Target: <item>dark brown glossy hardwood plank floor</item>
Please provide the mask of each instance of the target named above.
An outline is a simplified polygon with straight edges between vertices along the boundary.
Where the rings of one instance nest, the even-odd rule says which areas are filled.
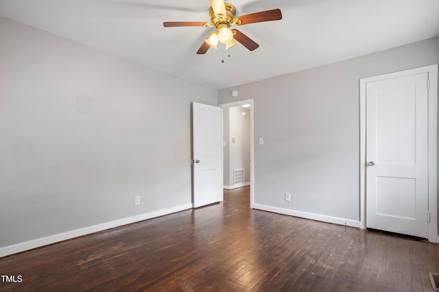
[[[0,258],[23,279],[0,291],[433,291],[439,245],[250,210],[248,192]]]

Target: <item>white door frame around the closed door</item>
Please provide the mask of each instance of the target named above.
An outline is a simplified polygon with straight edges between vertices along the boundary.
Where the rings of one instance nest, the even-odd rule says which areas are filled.
[[[429,90],[428,90],[428,212],[429,221],[429,238],[433,243],[439,243],[438,235],[438,64],[423,66],[415,69],[409,69],[394,73],[377,75],[373,77],[361,78],[359,80],[359,183],[360,183],[360,228],[366,229],[366,84],[379,80],[386,80],[406,75],[418,73],[428,73]],[[427,220],[427,215],[426,218]]]

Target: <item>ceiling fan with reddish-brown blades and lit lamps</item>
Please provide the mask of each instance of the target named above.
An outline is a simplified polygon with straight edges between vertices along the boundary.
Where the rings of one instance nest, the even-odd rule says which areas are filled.
[[[282,12],[280,9],[267,10],[261,12],[250,13],[241,16],[235,16],[236,8],[230,3],[224,3],[224,0],[211,0],[211,8],[209,8],[209,15],[211,22],[195,22],[195,21],[180,21],[180,22],[164,22],[164,27],[185,27],[185,26],[202,26],[202,27],[216,27],[217,31],[212,32],[204,40],[198,54],[206,53],[210,47],[217,48],[217,43],[222,42],[226,45],[226,49],[237,45],[238,42],[244,45],[250,51],[257,49],[259,45],[251,38],[239,32],[238,29],[230,29],[233,25],[246,25],[250,23],[261,23],[264,21],[278,21],[282,19]]]

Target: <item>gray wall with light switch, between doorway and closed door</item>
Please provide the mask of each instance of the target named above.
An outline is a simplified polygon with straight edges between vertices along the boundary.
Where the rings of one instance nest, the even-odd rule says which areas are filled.
[[[359,79],[437,63],[439,37],[219,90],[254,99],[254,203],[359,221]]]

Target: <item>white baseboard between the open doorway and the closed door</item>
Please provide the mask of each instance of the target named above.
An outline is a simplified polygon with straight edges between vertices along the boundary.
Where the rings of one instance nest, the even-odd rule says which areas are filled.
[[[294,217],[300,217],[300,218],[311,219],[311,220],[316,220],[316,221],[323,221],[323,222],[327,222],[327,223],[334,223],[334,224],[339,224],[339,225],[343,225],[343,226],[346,225],[346,226],[357,227],[357,228],[360,227],[359,221],[355,221],[355,220],[351,220],[351,219],[343,219],[343,218],[332,217],[332,216],[327,216],[327,215],[319,215],[319,214],[313,214],[313,213],[309,213],[309,212],[302,212],[302,211],[297,211],[297,210],[277,208],[277,207],[265,206],[265,205],[260,205],[260,204],[252,204],[252,208],[258,209],[258,210],[264,210],[264,211],[268,211],[268,212],[274,212],[274,213],[278,213],[278,214],[283,214],[283,215],[290,215],[290,216],[294,216]]]

